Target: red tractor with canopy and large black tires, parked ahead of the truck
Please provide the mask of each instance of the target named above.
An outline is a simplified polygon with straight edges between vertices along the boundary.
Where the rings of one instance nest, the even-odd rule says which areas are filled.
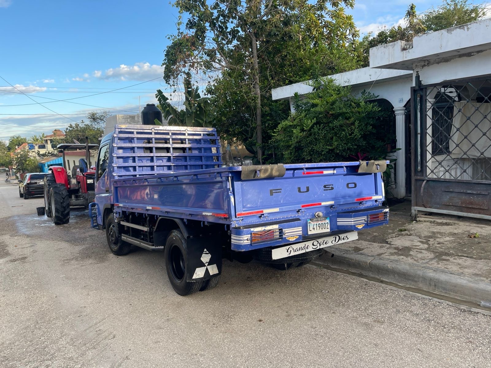
[[[44,180],[44,207],[46,216],[53,218],[55,225],[67,224],[70,221],[70,207],[84,207],[94,199],[95,170],[90,166],[90,149],[97,144],[63,143],[56,148],[62,153],[63,166],[50,166]],[[65,151],[85,149],[85,158],[79,159],[79,165],[72,167],[72,172],[65,170]]]

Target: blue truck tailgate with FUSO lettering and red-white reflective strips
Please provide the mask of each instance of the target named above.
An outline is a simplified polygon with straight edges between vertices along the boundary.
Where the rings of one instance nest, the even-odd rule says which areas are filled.
[[[358,173],[357,162],[285,165],[281,178],[234,180],[237,217],[381,200],[381,173]]]

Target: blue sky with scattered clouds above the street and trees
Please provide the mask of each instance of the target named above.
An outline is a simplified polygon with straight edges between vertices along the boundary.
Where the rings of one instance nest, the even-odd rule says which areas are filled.
[[[366,33],[397,24],[409,2],[360,0],[348,12]],[[413,2],[418,12],[441,3]],[[0,79],[0,139],[49,134],[88,111],[137,113],[138,101],[154,103],[155,90],[167,88],[161,64],[177,15],[166,0],[0,0],[0,77],[16,87]],[[63,117],[19,90],[39,103],[76,99],[45,104]]]

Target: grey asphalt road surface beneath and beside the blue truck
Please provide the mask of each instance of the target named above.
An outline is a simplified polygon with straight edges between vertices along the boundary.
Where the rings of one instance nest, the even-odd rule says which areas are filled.
[[[491,316],[306,266],[224,261],[177,295],[163,253],[113,256],[0,183],[0,367],[491,367]]]

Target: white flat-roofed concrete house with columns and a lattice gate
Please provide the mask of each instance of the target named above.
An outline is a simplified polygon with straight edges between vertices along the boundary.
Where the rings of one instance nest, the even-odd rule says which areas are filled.
[[[330,76],[370,91],[394,111],[398,198],[412,216],[437,212],[491,219],[491,20],[370,50],[370,68]],[[312,91],[273,89],[273,100]]]

